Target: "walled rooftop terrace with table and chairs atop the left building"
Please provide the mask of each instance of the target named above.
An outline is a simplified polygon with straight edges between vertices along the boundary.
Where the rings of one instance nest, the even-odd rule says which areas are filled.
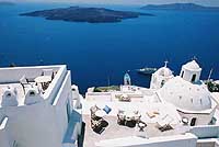
[[[53,103],[64,70],[66,66],[1,68],[0,108],[28,105],[41,100]]]

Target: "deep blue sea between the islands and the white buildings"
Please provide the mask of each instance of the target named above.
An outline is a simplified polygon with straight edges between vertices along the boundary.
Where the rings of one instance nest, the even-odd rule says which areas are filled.
[[[142,11],[139,7],[104,7],[152,13],[120,23],[73,23],[20,16],[20,13],[72,3],[20,3],[0,7],[0,66],[66,64],[72,83],[84,93],[89,87],[123,83],[130,70],[134,84],[149,87],[150,77],[138,75],[141,67],[169,67],[178,75],[194,56],[203,68],[201,78],[219,79],[219,12]],[[78,4],[77,4],[78,5]],[[84,7],[84,5],[83,5]]]

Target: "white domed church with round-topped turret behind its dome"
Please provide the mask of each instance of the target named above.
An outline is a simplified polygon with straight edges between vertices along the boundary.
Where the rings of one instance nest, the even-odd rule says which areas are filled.
[[[201,68],[195,60],[182,66],[181,77],[170,79],[159,90],[159,97],[172,103],[189,125],[211,122],[217,103],[207,87],[199,80]]]

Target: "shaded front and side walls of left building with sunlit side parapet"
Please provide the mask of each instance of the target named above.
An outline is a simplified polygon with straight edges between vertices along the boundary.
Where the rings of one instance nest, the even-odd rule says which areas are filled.
[[[9,136],[0,131],[0,147],[11,147],[14,140],[19,147],[62,147],[68,127],[67,103],[70,103],[69,113],[73,105],[70,101],[70,71],[67,71],[66,66],[59,67],[46,93],[47,100],[41,103],[0,109],[0,118],[5,115],[9,117]]]

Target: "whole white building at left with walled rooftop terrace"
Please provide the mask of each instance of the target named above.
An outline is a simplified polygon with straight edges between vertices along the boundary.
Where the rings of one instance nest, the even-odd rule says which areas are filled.
[[[0,68],[0,147],[74,146],[73,97],[64,65]]]

